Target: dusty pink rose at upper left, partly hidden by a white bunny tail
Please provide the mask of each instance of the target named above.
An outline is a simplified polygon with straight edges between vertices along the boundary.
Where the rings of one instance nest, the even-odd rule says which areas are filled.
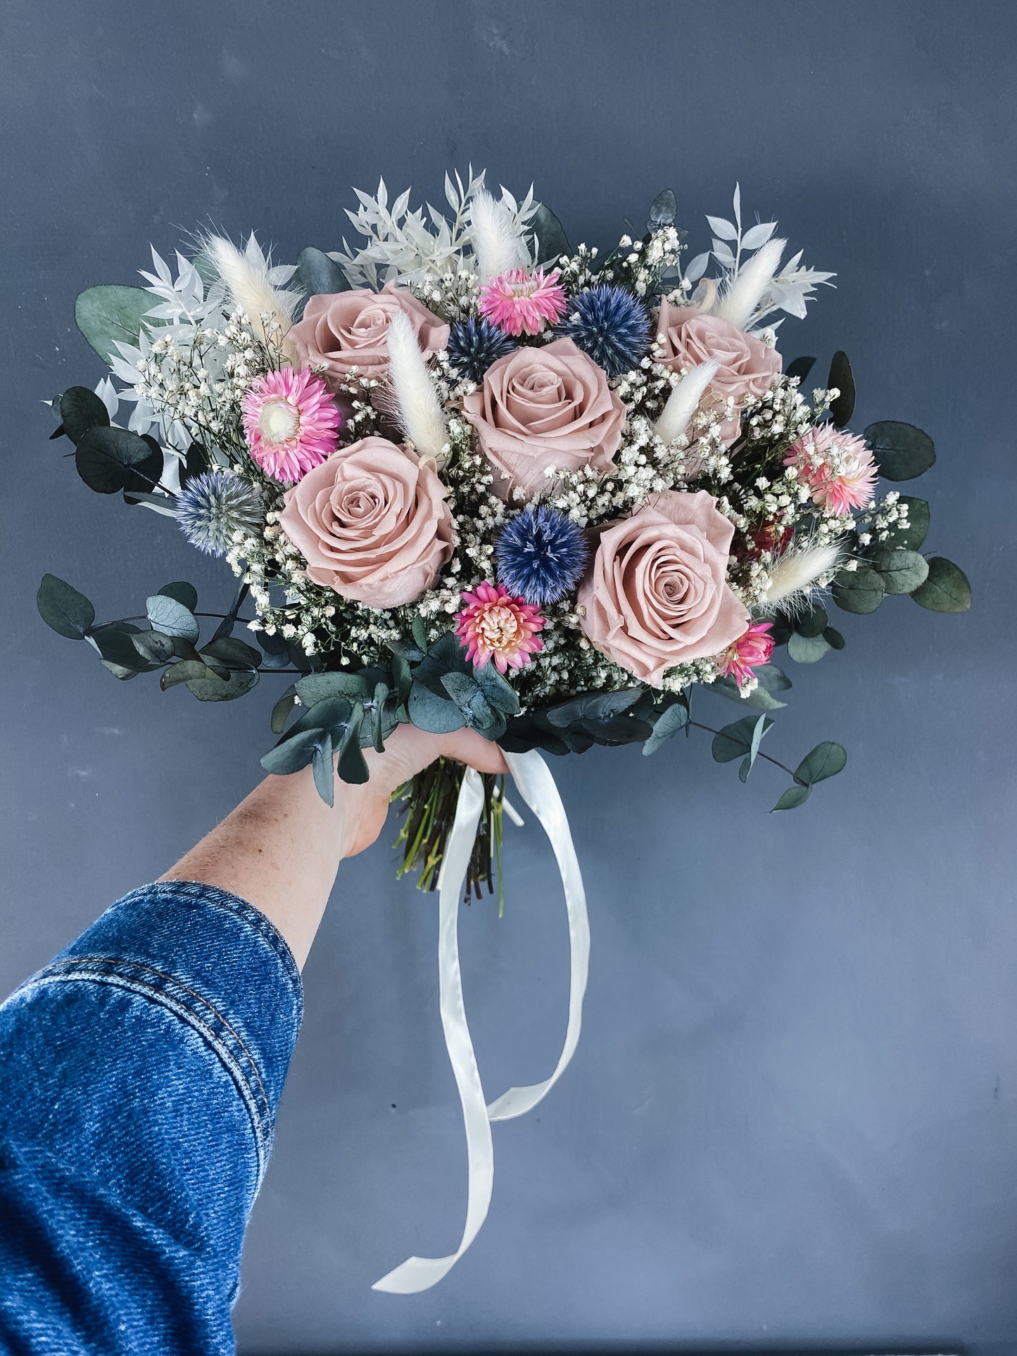
[[[348,376],[350,367],[357,367],[361,377],[384,377],[388,323],[397,311],[408,316],[423,353],[438,353],[449,342],[449,327],[395,282],[386,282],[381,292],[354,287],[311,297],[286,339],[304,367],[324,367],[324,380],[332,389]]]

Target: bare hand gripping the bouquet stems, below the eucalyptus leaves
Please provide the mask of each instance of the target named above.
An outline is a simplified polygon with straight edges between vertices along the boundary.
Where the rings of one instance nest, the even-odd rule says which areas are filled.
[[[477,772],[509,772],[498,744],[476,730],[457,730],[450,735],[428,735],[416,725],[399,725],[385,743],[385,753],[365,749],[370,780],[359,786],[336,781],[336,801],[342,800],[343,857],[353,857],[370,848],[381,833],[392,792],[423,772],[435,758],[454,758]]]

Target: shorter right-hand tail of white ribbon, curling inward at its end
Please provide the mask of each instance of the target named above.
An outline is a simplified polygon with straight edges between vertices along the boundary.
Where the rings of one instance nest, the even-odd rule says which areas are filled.
[[[534,750],[525,754],[504,754],[513,781],[533,814],[540,819],[544,831],[555,849],[557,869],[561,873],[561,887],[565,892],[565,913],[568,915],[570,979],[568,979],[568,1022],[561,1055],[555,1073],[544,1082],[527,1088],[510,1088],[496,1097],[487,1108],[490,1120],[513,1120],[523,1116],[540,1102],[561,1074],[575,1054],[579,1032],[583,1025],[583,995],[590,974],[590,918],[586,910],[586,890],[579,871],[572,833],[568,827],[565,807],[551,769]]]

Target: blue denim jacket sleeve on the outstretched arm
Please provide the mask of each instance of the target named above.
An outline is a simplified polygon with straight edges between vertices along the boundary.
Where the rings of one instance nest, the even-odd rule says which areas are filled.
[[[233,1352],[302,1016],[273,923],[163,881],[0,1006],[0,1352]]]

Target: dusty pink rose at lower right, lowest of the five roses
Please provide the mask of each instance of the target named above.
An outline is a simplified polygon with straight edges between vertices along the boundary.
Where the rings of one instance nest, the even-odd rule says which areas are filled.
[[[655,687],[675,664],[725,650],[750,621],[727,586],[734,530],[705,490],[669,490],[602,527],[578,594],[591,644]]]

